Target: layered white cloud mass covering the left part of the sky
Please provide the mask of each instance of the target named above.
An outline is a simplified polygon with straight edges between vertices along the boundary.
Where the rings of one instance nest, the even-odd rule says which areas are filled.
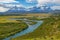
[[[11,3],[11,4],[8,4],[8,3]],[[18,3],[18,4],[13,4],[13,3]],[[22,5],[15,0],[0,0],[0,12],[6,12],[14,6],[21,7]]]

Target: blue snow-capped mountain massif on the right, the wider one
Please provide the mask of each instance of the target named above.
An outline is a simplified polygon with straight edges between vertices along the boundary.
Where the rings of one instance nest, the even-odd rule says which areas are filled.
[[[29,8],[29,9],[30,9],[30,11],[28,11],[28,12],[51,12],[52,11],[52,9],[50,7],[45,7],[45,6],[43,6],[43,7],[35,6],[33,8]]]

